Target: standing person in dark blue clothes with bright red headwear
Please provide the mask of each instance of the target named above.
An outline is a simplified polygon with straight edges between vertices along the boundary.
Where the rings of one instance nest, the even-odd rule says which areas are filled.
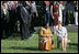
[[[50,3],[49,3],[49,1],[44,1],[44,19],[45,19],[45,23],[49,24],[49,18],[50,18]]]

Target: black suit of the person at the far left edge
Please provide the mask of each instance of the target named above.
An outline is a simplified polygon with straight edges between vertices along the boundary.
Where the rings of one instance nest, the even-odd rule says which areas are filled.
[[[8,37],[10,35],[9,31],[9,11],[7,10],[7,14],[4,14],[3,9],[1,9],[1,34],[2,37]]]

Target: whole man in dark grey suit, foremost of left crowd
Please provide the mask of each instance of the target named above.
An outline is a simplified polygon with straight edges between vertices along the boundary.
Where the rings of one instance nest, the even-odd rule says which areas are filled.
[[[21,31],[21,36],[22,40],[27,39],[30,36],[30,7],[31,3],[30,1],[19,1],[19,10],[18,12],[20,13],[20,31]]]

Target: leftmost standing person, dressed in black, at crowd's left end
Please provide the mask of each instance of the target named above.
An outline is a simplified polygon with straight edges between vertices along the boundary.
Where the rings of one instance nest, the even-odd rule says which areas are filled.
[[[8,37],[10,35],[9,31],[9,11],[8,11],[8,4],[7,1],[3,3],[3,36]]]

